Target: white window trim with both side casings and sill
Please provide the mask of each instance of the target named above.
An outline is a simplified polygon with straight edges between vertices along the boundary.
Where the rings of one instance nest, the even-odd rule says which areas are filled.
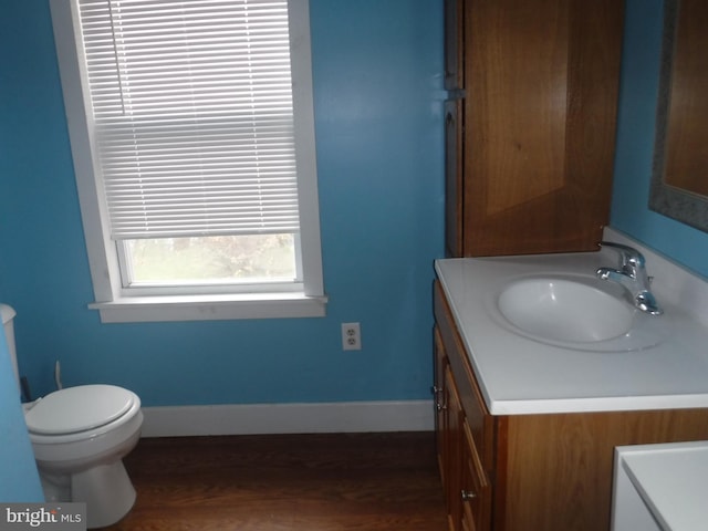
[[[95,301],[104,323],[212,321],[233,319],[324,316],[320,216],[314,146],[314,105],[309,0],[289,0],[293,62],[295,153],[299,180],[309,189],[300,197],[303,290],[274,293],[125,296],[118,257],[108,233],[107,212],[98,199],[91,156],[82,71],[79,66],[71,0],[50,0],[74,173]]]

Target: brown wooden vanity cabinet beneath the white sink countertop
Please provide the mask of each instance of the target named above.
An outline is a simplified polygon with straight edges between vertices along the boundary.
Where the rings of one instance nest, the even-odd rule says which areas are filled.
[[[708,440],[706,408],[490,415],[439,283],[435,317],[450,531],[610,530],[616,446]]]

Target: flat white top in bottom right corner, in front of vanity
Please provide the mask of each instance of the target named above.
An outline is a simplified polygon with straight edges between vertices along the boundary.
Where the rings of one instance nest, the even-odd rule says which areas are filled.
[[[662,530],[706,529],[708,441],[618,447],[615,462]],[[615,507],[616,520],[622,510]]]

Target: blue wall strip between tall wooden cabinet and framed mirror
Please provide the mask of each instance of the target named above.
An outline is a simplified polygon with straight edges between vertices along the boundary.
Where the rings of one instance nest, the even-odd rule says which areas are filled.
[[[611,225],[708,277],[708,235],[648,209],[663,0],[626,0]]]

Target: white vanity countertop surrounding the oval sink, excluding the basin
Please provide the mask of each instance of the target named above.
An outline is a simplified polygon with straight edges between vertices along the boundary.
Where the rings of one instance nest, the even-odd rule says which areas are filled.
[[[708,327],[670,298],[659,344],[627,352],[552,346],[514,333],[496,311],[511,279],[616,267],[602,252],[444,259],[436,271],[492,415],[708,407]],[[652,274],[652,264],[647,269]],[[658,268],[657,268],[658,269]],[[657,292],[658,294],[658,292]],[[655,321],[659,323],[659,321]]]

